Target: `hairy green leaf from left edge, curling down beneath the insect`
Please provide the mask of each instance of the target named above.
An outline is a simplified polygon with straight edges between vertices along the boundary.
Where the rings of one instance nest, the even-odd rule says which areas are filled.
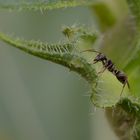
[[[81,49],[75,41],[68,41],[68,43],[61,44],[48,44],[41,41],[16,39],[3,33],[0,33],[0,40],[26,53],[63,65],[71,71],[80,74],[89,83],[91,101],[98,107],[112,106],[120,99],[120,94],[110,96],[106,92],[104,94],[100,92],[95,65],[89,62],[89,55],[87,56],[81,53]]]

